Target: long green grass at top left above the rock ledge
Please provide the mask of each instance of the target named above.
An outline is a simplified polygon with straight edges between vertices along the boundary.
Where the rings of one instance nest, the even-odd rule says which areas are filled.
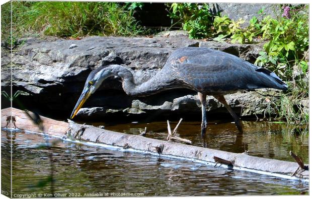
[[[8,6],[6,6],[8,7]],[[131,7],[130,7],[131,10]],[[134,36],[142,32],[132,16],[118,3],[13,2],[13,32],[50,36]],[[6,14],[5,22],[10,16]]]

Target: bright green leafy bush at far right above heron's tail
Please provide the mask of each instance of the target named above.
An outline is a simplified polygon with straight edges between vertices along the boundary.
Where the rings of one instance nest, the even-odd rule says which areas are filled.
[[[305,8],[307,9],[307,8]],[[261,31],[262,38],[269,40],[264,45],[266,55],[257,59],[259,66],[271,66],[278,69],[284,79],[291,79],[292,70],[288,67],[280,70],[280,65],[299,65],[302,71],[307,71],[307,64],[304,60],[304,53],[308,49],[308,13],[305,9],[291,10],[291,18],[272,19],[265,17]],[[271,60],[275,60],[272,63]],[[272,66],[273,64],[273,66]],[[275,68],[275,66],[277,68]]]

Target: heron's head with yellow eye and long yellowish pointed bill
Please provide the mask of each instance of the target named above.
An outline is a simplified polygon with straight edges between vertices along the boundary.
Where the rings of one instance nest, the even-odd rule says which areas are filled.
[[[72,113],[70,115],[70,119],[72,119],[80,108],[84,105],[87,99],[93,94],[102,84],[102,82],[112,75],[111,70],[109,68],[98,68],[93,70],[85,83],[84,90],[80,95]]]

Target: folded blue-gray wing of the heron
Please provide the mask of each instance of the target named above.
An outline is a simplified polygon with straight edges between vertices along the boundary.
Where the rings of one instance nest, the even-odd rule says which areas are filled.
[[[206,93],[252,89],[253,73],[259,68],[219,51],[189,53],[172,60],[171,67],[194,90]]]

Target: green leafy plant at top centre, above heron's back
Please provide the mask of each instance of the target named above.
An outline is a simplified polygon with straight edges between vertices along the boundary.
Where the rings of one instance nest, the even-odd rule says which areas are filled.
[[[183,30],[188,31],[191,39],[211,37],[214,16],[208,4],[173,3],[168,6],[169,16],[182,23]]]

